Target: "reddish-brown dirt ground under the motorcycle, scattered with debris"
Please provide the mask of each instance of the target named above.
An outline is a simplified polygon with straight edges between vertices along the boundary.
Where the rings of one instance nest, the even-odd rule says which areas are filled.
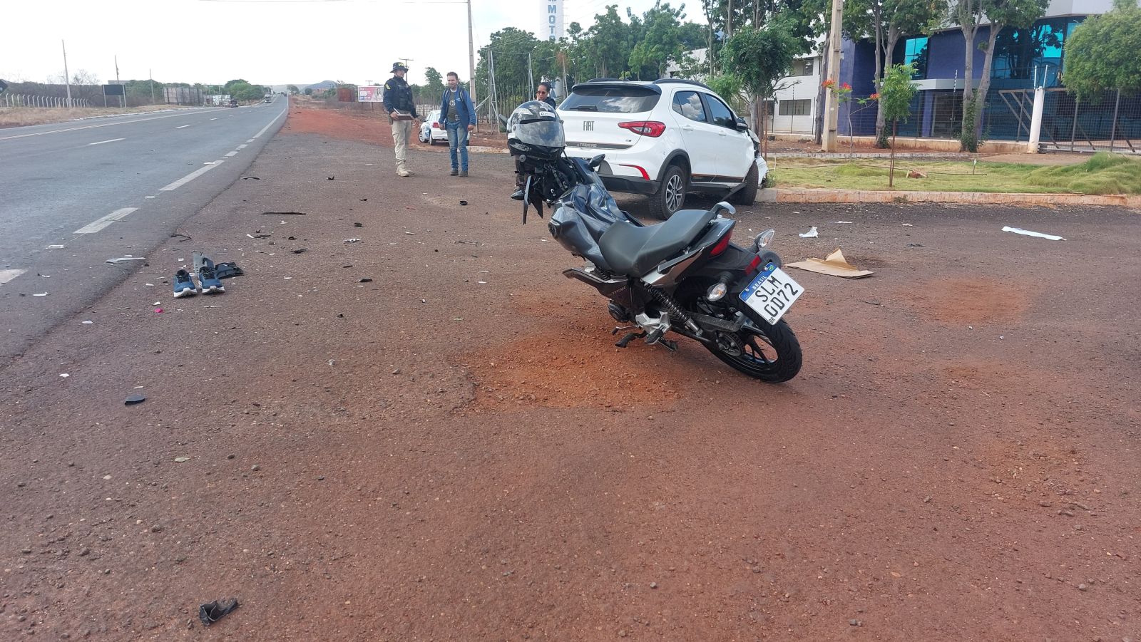
[[[793,275],[766,385],[615,348],[510,157],[400,179],[386,130],[291,111],[2,367],[0,637],[1141,640],[1134,212],[742,208],[875,271]],[[155,294],[195,250],[245,276]]]

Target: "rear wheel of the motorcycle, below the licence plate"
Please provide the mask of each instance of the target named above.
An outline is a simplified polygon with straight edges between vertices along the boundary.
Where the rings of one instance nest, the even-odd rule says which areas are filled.
[[[784,319],[771,325],[744,304],[741,308],[725,307],[743,312],[752,326],[745,326],[733,335],[726,333],[712,344],[704,343],[714,357],[737,372],[766,383],[780,383],[796,376],[803,363],[800,342]]]

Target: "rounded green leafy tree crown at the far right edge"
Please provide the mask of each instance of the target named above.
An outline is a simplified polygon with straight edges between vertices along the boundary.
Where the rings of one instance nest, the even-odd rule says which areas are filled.
[[[1107,89],[1141,91],[1141,9],[1135,0],[1091,16],[1066,40],[1066,89],[1079,99]]]

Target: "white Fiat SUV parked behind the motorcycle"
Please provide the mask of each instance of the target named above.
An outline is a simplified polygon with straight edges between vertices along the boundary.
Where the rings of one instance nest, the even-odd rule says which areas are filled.
[[[648,195],[661,219],[690,192],[752,204],[768,172],[745,121],[699,82],[596,79],[574,86],[558,114],[567,155],[605,154],[607,189]]]

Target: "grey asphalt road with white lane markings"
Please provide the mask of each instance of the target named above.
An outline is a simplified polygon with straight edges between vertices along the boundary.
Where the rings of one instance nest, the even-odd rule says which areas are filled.
[[[237,180],[288,100],[0,130],[0,356],[90,304]],[[169,285],[155,284],[155,300]]]

